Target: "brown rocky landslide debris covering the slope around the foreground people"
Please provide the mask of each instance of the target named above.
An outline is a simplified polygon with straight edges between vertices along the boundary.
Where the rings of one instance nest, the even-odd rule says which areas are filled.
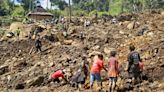
[[[83,25],[71,24],[68,37],[64,38],[59,31],[52,31],[54,42],[42,39],[43,52],[34,53],[34,40],[20,38],[19,41],[0,42],[0,90],[1,92],[75,92],[76,88],[68,84],[47,84],[49,76],[61,67],[77,71],[81,57],[101,52],[105,64],[109,52],[114,48],[118,52],[122,66],[118,79],[120,92],[163,92],[164,90],[164,12],[152,11],[140,14],[122,14],[117,17],[118,23],[100,21],[84,29]],[[30,24],[26,24],[30,25]],[[46,30],[45,30],[46,31]],[[81,40],[80,32],[84,32]],[[46,35],[46,32],[40,34]],[[3,38],[3,37],[2,37]],[[2,39],[1,38],[1,39]],[[128,46],[134,44],[145,64],[144,81],[138,85],[127,83],[126,59]],[[107,73],[102,72],[103,91],[108,90]],[[89,78],[86,81],[89,86]],[[96,85],[96,84],[95,84]],[[95,86],[95,89],[97,87]],[[91,92],[90,89],[82,92]]]

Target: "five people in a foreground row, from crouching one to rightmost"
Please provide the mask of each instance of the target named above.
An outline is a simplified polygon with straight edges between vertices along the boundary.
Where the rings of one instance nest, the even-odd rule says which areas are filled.
[[[129,79],[131,79],[131,83],[135,83],[138,79],[141,79],[142,71],[143,71],[143,63],[140,58],[140,55],[137,51],[135,51],[135,47],[132,45],[129,47],[130,53],[128,55],[128,69],[127,72],[129,74]],[[68,83],[78,85],[81,84],[85,87],[85,81],[90,71],[90,88],[93,88],[93,84],[97,81],[99,87],[102,88],[102,79],[101,79],[101,70],[104,69],[109,78],[109,92],[113,92],[116,88],[117,78],[119,76],[119,63],[116,58],[117,52],[111,51],[110,58],[108,61],[108,67],[105,67],[103,61],[103,55],[98,54],[97,57],[93,59],[93,64],[89,69],[89,64],[85,62],[85,58],[83,58],[80,69],[75,73],[70,80],[65,78],[66,72],[65,69],[59,69],[55,71],[51,75],[51,81],[57,81],[59,83],[59,78],[65,79]]]

